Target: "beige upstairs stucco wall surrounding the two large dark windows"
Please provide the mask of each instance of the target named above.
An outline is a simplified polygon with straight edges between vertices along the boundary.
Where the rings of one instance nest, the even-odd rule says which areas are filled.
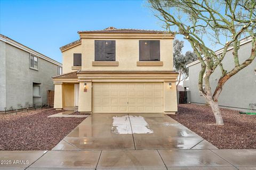
[[[160,60],[163,66],[137,66],[139,61],[140,39],[111,39],[116,41],[116,61],[118,66],[92,66],[94,61],[94,40],[82,39],[82,70],[172,70],[173,69],[173,42],[172,39],[160,40]],[[109,39],[100,39],[109,40]],[[145,40],[145,39],[143,39]],[[150,39],[147,39],[150,40]],[[63,63],[63,67],[66,64]]]

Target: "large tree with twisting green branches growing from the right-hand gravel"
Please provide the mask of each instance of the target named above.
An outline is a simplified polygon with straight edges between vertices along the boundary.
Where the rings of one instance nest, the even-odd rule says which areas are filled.
[[[224,84],[240,70],[251,64],[256,56],[256,0],[148,0],[155,16],[164,27],[185,37],[201,62],[198,88],[210,104],[217,125],[224,125],[218,98]],[[241,37],[251,36],[251,55],[239,61],[238,49]],[[207,37],[207,39],[206,39]],[[206,40],[223,46],[217,56]],[[222,61],[229,47],[233,46],[234,67],[225,70]],[[231,64],[231,63],[230,63]],[[211,90],[210,77],[215,69],[221,70],[215,90]],[[203,83],[205,88],[203,88]]]

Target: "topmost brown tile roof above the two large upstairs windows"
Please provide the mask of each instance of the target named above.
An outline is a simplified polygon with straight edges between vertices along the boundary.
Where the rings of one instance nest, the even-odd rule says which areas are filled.
[[[78,33],[169,33],[162,30],[141,30],[141,29],[117,29],[108,27],[103,30],[78,31]]]

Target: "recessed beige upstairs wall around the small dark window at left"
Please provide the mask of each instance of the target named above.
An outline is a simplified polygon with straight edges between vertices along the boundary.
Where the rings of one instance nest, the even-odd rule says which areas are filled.
[[[71,70],[71,67],[73,66],[73,54],[74,53],[82,53],[82,46],[78,45],[75,46],[73,48],[70,48],[68,50],[65,50],[64,52],[62,52],[62,72],[63,74],[68,73],[68,72],[72,72],[75,70]]]

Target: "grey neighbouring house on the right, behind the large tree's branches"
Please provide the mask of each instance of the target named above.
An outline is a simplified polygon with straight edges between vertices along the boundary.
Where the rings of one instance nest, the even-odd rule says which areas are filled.
[[[239,62],[242,63],[251,55],[252,39],[245,38],[241,40],[241,46],[238,50]],[[234,60],[232,49],[230,47],[223,60],[223,67],[227,71],[230,71],[234,67]],[[215,52],[217,55],[222,53],[222,49]],[[198,75],[201,70],[201,63],[195,61],[187,65],[189,68],[189,80],[183,81],[183,87],[190,91],[191,103],[205,104],[204,97],[198,90]],[[223,87],[223,90],[219,97],[219,105],[226,108],[247,111],[251,108],[250,104],[256,104],[256,60],[254,60],[249,66],[239,71],[233,77],[231,77]],[[218,79],[221,75],[220,69],[216,69],[212,74],[210,83],[212,90],[215,89],[218,83]],[[256,109],[256,105],[253,106]]]

